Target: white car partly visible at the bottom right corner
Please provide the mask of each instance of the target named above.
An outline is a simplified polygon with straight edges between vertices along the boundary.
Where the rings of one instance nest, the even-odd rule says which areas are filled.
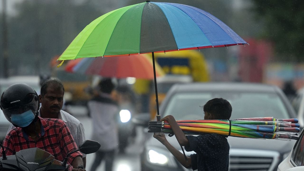
[[[292,151],[286,159],[278,166],[278,171],[299,171],[304,170],[304,131],[302,130],[299,140],[296,141]]]

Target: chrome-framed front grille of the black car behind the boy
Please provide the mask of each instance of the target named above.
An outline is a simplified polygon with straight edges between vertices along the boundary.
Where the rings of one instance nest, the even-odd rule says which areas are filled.
[[[230,149],[230,171],[273,171],[280,154],[267,150]]]

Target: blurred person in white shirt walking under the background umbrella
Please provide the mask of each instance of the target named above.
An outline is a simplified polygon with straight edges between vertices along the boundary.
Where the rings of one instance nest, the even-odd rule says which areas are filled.
[[[105,171],[112,171],[115,152],[119,143],[116,122],[119,112],[118,104],[111,97],[111,92],[114,89],[111,79],[102,79],[99,88],[99,95],[88,101],[88,109],[94,128],[92,140],[101,144],[101,147],[95,153],[91,171],[95,171],[102,160],[105,161]]]

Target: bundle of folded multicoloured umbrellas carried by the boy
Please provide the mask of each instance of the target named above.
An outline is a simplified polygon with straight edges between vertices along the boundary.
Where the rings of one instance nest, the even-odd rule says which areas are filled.
[[[273,117],[240,118],[233,120],[177,120],[186,135],[217,133],[241,138],[295,139],[299,138],[298,119]],[[148,132],[163,132],[173,135],[167,121],[150,121]]]

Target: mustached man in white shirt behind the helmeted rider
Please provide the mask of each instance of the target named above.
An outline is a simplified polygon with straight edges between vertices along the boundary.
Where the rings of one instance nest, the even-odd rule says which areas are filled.
[[[61,119],[67,124],[76,145],[85,141],[85,130],[81,122],[71,114],[61,110],[63,106],[64,86],[58,79],[48,79],[41,85],[39,102],[39,116],[42,118]],[[11,124],[9,131],[14,126]],[[86,155],[82,153],[84,167],[86,165]]]

